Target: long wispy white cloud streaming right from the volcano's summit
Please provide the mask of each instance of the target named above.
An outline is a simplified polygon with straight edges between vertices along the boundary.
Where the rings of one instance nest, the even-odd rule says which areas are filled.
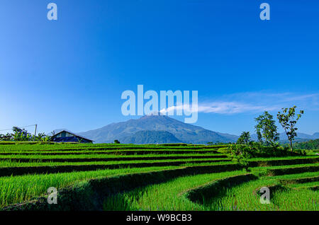
[[[235,93],[228,96],[206,100],[198,103],[198,108],[192,105],[177,105],[162,109],[160,113],[169,113],[174,110],[184,110],[193,113],[217,113],[217,114],[237,114],[237,113],[258,113],[267,110],[269,112],[280,110],[284,107],[297,105],[303,110],[319,110],[319,93],[296,94],[296,93]]]

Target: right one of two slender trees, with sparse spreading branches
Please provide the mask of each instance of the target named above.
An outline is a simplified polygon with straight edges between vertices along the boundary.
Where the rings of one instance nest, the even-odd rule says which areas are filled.
[[[291,152],[293,151],[292,142],[295,137],[297,137],[296,130],[298,128],[295,127],[295,125],[303,114],[303,110],[300,110],[300,114],[296,115],[296,108],[296,105],[293,105],[293,107],[291,108],[282,108],[282,112],[278,112],[277,114],[279,123],[284,128],[285,133],[289,139]]]

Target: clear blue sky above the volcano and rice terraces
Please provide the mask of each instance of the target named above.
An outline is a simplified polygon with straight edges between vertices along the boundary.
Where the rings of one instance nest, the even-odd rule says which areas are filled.
[[[319,132],[318,24],[315,0],[1,0],[0,129],[125,121],[121,93],[142,84],[198,91],[196,125],[214,131],[253,132],[263,110],[297,105],[299,132]]]

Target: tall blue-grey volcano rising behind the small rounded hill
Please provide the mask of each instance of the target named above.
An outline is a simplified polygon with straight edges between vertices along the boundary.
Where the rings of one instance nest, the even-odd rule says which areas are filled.
[[[79,133],[93,139],[96,143],[109,143],[118,139],[134,138],[140,131],[166,131],[174,135],[180,142],[206,144],[207,142],[234,142],[237,136],[213,132],[203,127],[186,124],[165,115],[146,115],[138,120],[112,123],[99,129]],[[128,139],[126,139],[128,140]]]

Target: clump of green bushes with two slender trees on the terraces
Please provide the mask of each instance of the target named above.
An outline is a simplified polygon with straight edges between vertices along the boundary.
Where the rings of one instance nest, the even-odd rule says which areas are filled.
[[[280,146],[279,133],[275,125],[273,115],[264,111],[262,115],[254,118],[257,125],[254,126],[257,133],[258,142],[253,142],[250,139],[250,132],[242,132],[237,139],[236,144],[231,144],[228,151],[231,156],[237,160],[242,166],[247,166],[249,158],[257,157],[272,157],[272,156],[300,156],[306,155],[306,151],[293,151],[293,140],[297,136],[296,123],[303,114],[296,115],[296,105],[292,108],[283,108],[282,112],[278,112],[277,118],[279,123],[284,128],[289,140],[289,146]],[[289,152],[289,149],[291,150]],[[313,149],[313,147],[310,147]]]

